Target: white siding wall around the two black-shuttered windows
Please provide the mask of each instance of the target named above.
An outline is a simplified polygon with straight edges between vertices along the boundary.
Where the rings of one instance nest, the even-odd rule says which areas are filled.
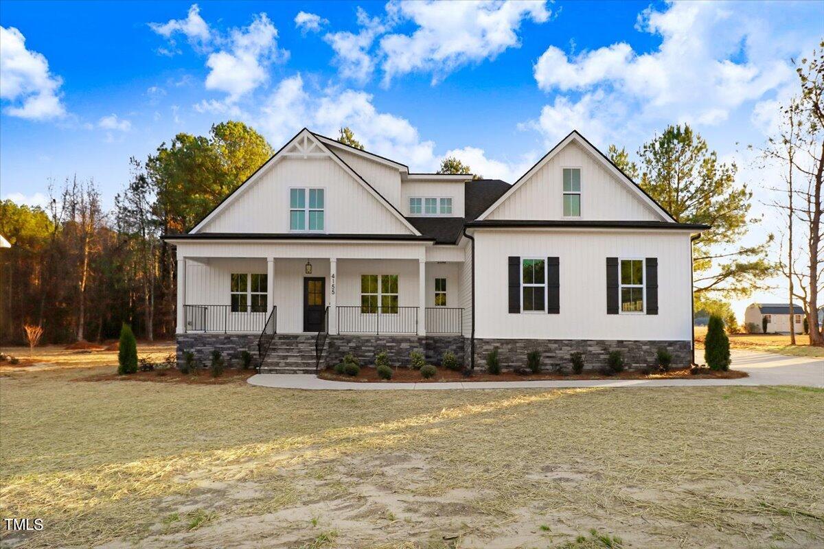
[[[689,341],[690,235],[476,230],[475,337]],[[560,314],[508,312],[508,256],[559,257]],[[658,258],[658,314],[606,314],[606,258]]]

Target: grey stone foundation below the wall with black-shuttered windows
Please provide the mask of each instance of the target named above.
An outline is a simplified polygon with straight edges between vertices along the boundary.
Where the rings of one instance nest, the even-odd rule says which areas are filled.
[[[466,340],[467,354],[470,341]],[[606,365],[611,351],[624,353],[625,367],[637,370],[656,365],[656,352],[666,349],[672,354],[673,368],[686,368],[692,362],[692,342],[689,341],[629,341],[592,339],[475,339],[475,370],[486,369],[486,355],[498,347],[498,357],[503,370],[527,367],[527,353],[541,351],[541,368],[549,370],[555,365],[570,365],[569,355],[578,351],[583,354],[584,369],[594,370]]]

